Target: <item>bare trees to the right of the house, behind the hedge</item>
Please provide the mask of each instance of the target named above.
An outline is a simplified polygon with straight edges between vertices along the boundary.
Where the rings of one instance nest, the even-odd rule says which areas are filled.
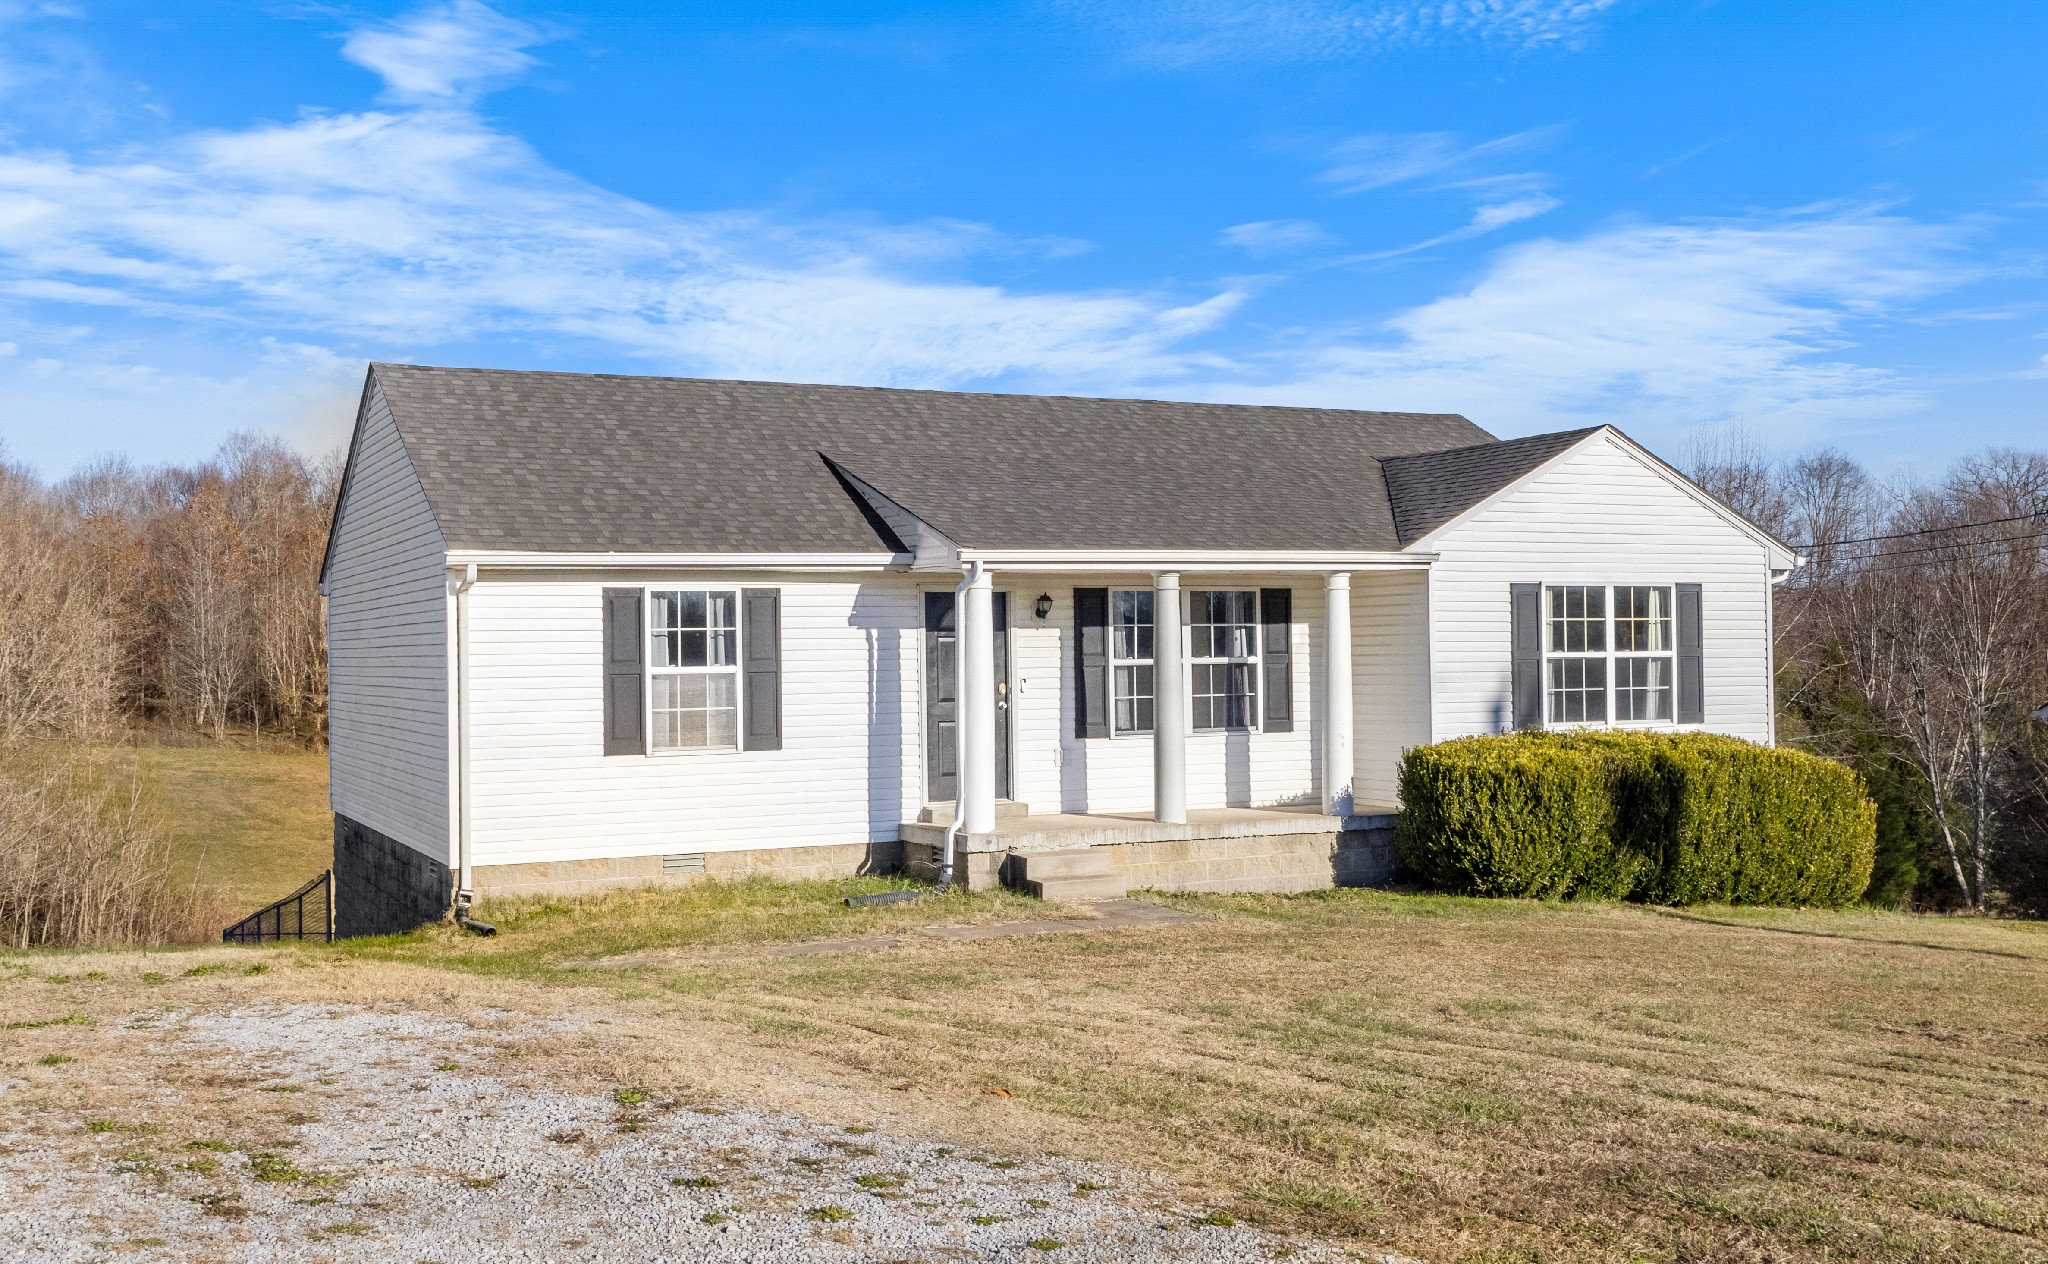
[[[1882,481],[1735,438],[1696,481],[1806,563],[1774,602],[1780,742],[1878,801],[1878,903],[2048,916],[2048,453]]]

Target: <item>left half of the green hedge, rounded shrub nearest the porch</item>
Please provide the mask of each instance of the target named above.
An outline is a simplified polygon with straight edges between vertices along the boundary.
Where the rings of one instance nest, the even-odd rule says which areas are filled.
[[[1647,869],[1616,830],[1599,754],[1540,733],[1411,750],[1401,760],[1401,867],[1446,891],[1620,899]]]

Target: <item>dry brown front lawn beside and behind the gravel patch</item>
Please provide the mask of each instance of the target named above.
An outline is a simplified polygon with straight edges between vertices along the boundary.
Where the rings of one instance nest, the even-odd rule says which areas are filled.
[[[475,957],[449,932],[170,959],[270,963],[254,977],[41,957],[0,987],[6,1018],[96,1026],[25,1028],[4,1073],[147,1004],[573,1010],[614,1035],[537,1071],[1122,1162],[1440,1264],[2048,1258],[2048,928],[1176,903],[1210,922],[618,971]],[[90,963],[109,977],[84,981]]]

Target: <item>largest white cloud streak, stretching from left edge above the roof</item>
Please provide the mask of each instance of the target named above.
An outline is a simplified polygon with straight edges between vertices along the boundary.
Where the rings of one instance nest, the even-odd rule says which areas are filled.
[[[594,340],[674,371],[899,385],[1171,377],[1233,291],[1014,293],[926,277],[1008,242],[674,215],[549,166],[461,104],[524,27],[467,2],[358,31],[416,109],[188,135],[147,158],[0,154],[0,293],[432,346]]]

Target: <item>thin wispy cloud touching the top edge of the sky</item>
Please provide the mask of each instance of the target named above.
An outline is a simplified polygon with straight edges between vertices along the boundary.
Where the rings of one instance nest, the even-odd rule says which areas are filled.
[[[1620,0],[1061,0],[1159,66],[1335,61],[1391,47],[1483,39],[1516,47],[1585,39]]]

